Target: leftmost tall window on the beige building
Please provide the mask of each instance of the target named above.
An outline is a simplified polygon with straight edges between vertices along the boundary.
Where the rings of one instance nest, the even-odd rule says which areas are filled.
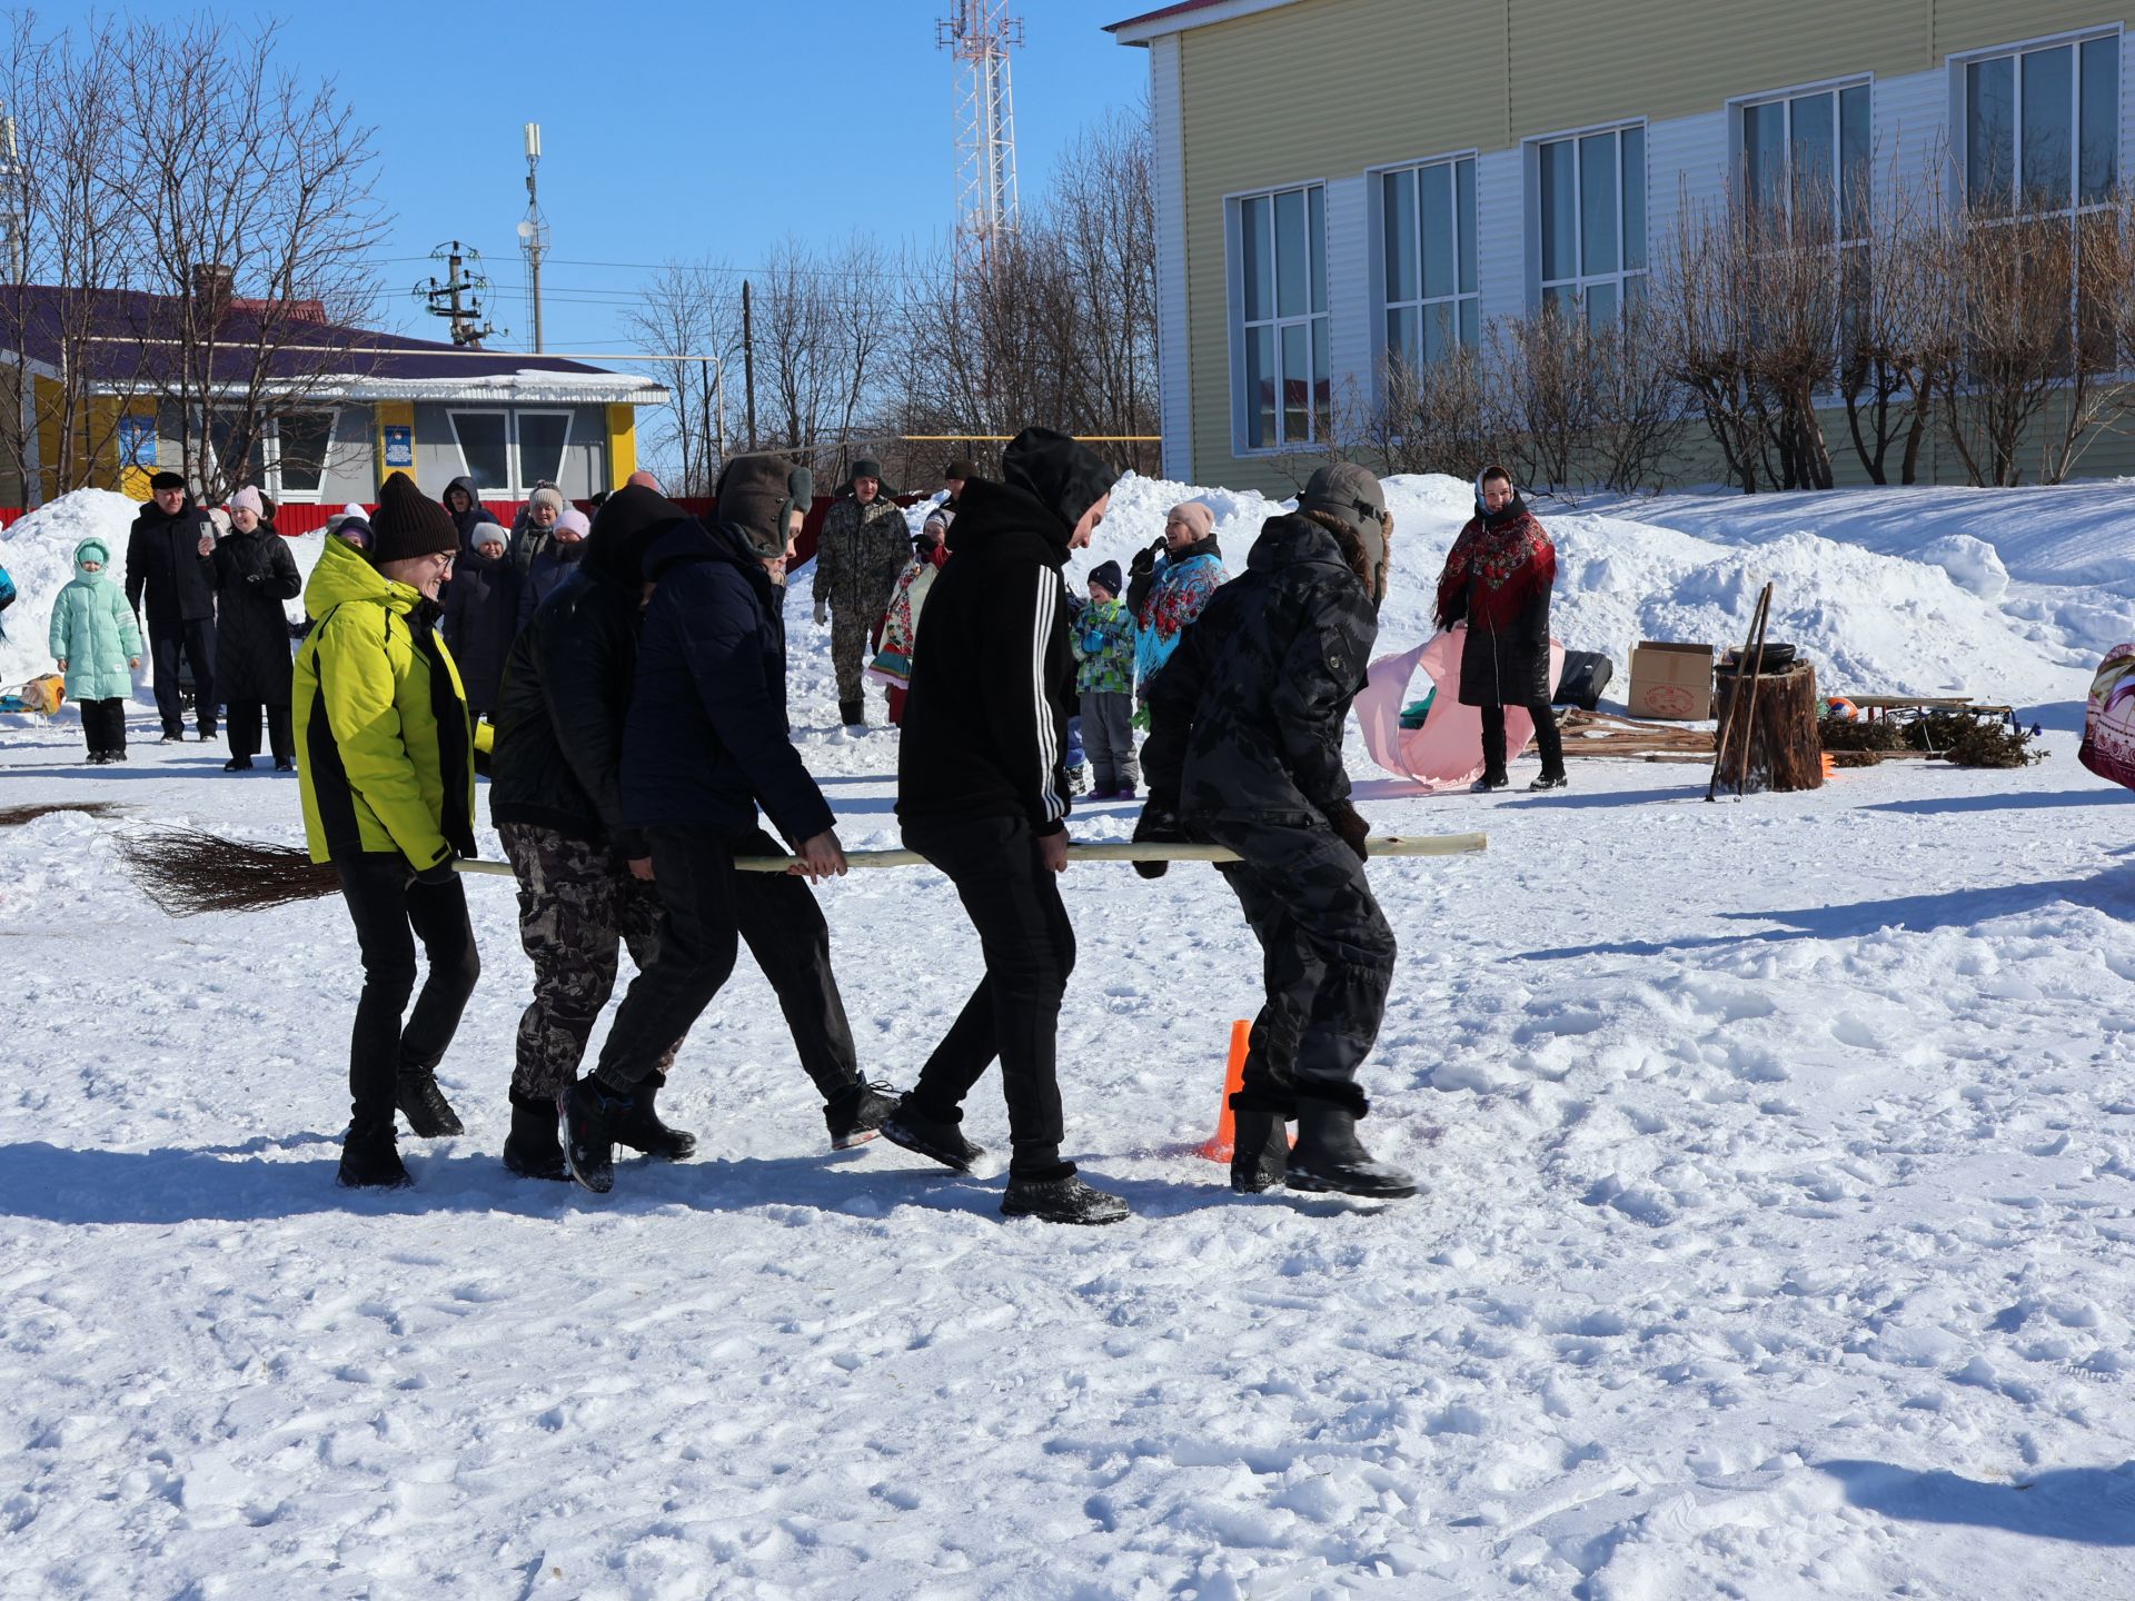
[[[1238,412],[1247,450],[1326,438],[1332,416],[1326,190],[1317,184],[1236,203]]]

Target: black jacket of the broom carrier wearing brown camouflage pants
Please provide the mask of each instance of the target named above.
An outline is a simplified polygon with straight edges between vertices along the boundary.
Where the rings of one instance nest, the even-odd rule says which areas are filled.
[[[512,640],[489,756],[491,822],[527,822],[645,856],[623,824],[623,717],[643,606],[632,583],[579,570]]]

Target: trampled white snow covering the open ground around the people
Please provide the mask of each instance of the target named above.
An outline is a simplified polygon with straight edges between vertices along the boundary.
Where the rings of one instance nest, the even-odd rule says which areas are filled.
[[[1125,485],[1093,559],[1185,493]],[[1462,493],[1392,489],[1388,649]],[[2135,491],[2052,495],[2135,549]],[[1268,506],[1208,500],[1243,561]],[[1638,634],[1740,636],[1774,576],[1832,687],[2082,698],[2084,628],[2126,615],[2109,540],[2086,596],[1983,517],[1986,593],[1968,546],[1919,559],[1962,529],[1898,549],[1862,500],[1544,508],[1559,634],[1620,670]],[[807,604],[801,574],[796,736],[848,845],[895,843],[895,734],[828,726]],[[1074,869],[1070,1148],[1136,1206],[1085,1234],[828,1155],[747,963],[664,1099],[698,1161],[604,1204],[515,1180],[495,882],[442,1069],[470,1134],[410,1140],[412,1191],[337,1191],[344,912],[173,922],[113,850],[297,841],[292,779],[201,745],[90,773],[70,719],[15,719],[0,803],[120,813],[0,830],[0,1597],[2126,1595],[2135,796],[2045,743],[1721,805],[1591,760],[1418,798],[1356,754],[1375,826],[1490,833],[1373,869],[1403,961],[1366,1131],[1426,1180],[1388,1208],[1234,1198],[1191,1155],[1258,954],[1206,869]],[[978,976],[954,899],[822,894],[865,1065],[910,1082]],[[971,1131],[1006,1138],[991,1078]]]

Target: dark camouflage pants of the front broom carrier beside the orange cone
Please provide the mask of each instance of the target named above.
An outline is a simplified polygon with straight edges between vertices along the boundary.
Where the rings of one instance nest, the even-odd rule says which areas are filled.
[[[1300,1095],[1360,1104],[1356,1069],[1394,980],[1394,931],[1364,865],[1324,822],[1206,822],[1198,833],[1245,858],[1217,871],[1260,939],[1268,1001],[1253,1020],[1245,1089],[1285,1114]]]

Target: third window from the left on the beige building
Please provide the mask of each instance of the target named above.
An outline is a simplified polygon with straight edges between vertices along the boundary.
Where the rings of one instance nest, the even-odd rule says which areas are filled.
[[[1535,145],[1541,305],[1588,324],[1646,292],[1646,128]]]

